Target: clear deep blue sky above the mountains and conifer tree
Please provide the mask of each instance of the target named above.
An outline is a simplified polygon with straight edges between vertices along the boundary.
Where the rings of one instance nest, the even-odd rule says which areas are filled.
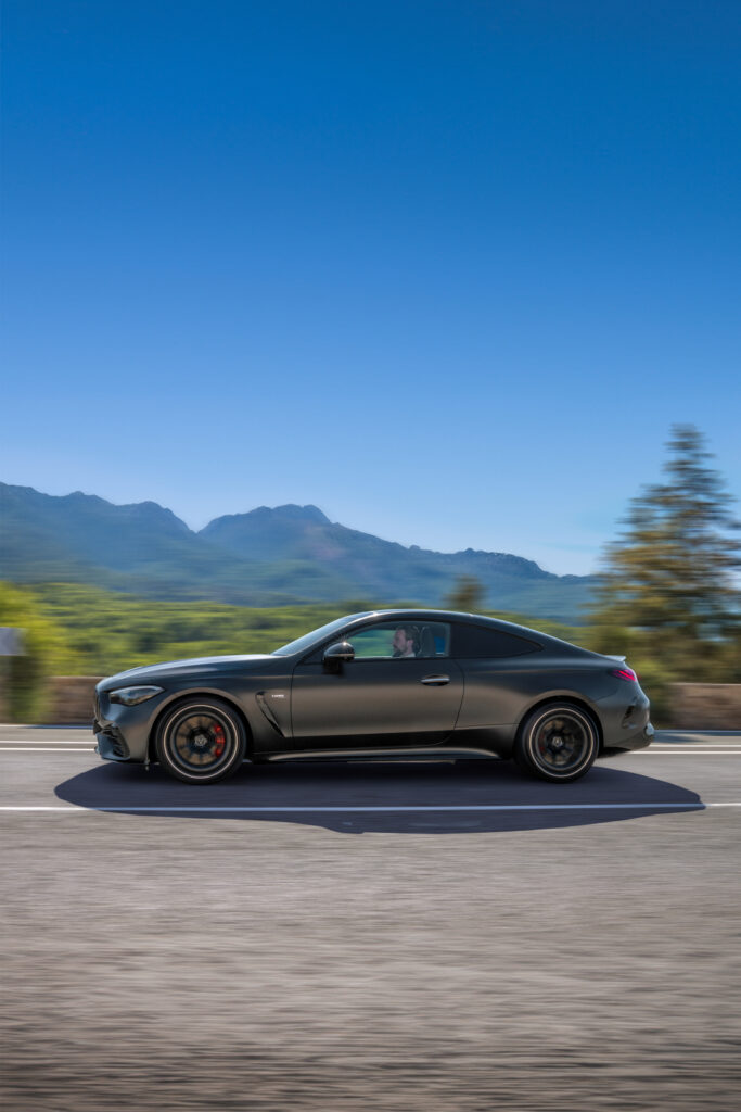
[[[741,496],[741,6],[6,0],[0,478],[592,569]]]

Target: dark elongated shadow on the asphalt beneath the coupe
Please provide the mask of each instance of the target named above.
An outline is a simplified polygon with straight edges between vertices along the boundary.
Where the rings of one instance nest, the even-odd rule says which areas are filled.
[[[282,822],[343,834],[552,830],[703,806],[695,792],[618,767],[595,765],[584,780],[549,784],[487,759],[244,764],[227,782],[204,786],[173,781],[157,765],[149,772],[102,765],[64,781],[56,794],[93,811]]]

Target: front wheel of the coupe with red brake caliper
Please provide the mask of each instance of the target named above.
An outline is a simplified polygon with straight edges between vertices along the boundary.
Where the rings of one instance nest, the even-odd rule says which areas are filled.
[[[170,707],[154,742],[157,759],[187,784],[216,784],[244,759],[247,734],[239,716],[218,698],[191,698]]]

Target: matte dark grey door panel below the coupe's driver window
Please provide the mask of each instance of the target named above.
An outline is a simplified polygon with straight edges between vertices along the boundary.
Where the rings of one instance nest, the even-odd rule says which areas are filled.
[[[300,664],[293,738],[304,747],[320,739],[328,747],[437,744],[452,733],[462,696],[463,675],[450,658],[356,659],[338,673]]]

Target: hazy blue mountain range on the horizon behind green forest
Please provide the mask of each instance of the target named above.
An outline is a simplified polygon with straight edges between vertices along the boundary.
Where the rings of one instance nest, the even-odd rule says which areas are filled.
[[[440,605],[473,576],[489,609],[579,620],[593,578],[508,553],[404,547],[332,523],[316,506],[261,506],[193,532],[153,502],[116,506],[0,483],[0,578],[87,583],[151,598],[239,605],[364,599]]]

